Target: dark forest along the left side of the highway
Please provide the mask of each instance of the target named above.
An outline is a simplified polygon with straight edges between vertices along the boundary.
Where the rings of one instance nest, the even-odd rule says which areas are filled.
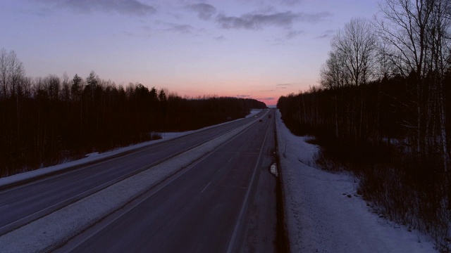
[[[142,84],[118,86],[94,72],[82,78],[26,77],[14,51],[0,50],[0,176],[9,176],[132,143],[159,132],[239,119],[258,100],[182,98]]]

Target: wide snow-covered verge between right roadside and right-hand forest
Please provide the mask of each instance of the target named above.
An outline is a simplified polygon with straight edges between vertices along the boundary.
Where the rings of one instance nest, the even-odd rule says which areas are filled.
[[[353,176],[312,167],[318,147],[291,134],[276,113],[292,252],[436,252],[426,235],[373,214],[357,195]]]

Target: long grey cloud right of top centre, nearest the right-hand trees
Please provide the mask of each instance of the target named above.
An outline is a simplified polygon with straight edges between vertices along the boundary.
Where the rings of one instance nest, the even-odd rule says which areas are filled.
[[[247,13],[240,17],[226,16],[220,14],[216,22],[224,29],[247,29],[260,30],[265,26],[292,27],[293,22],[318,22],[330,15],[327,12],[321,13],[292,13],[291,11],[278,13]]]

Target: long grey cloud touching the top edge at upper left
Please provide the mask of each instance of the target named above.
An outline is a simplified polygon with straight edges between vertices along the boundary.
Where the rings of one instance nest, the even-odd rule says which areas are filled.
[[[138,0],[35,0],[44,8],[68,8],[79,13],[92,11],[116,12],[126,15],[152,15],[156,8]]]

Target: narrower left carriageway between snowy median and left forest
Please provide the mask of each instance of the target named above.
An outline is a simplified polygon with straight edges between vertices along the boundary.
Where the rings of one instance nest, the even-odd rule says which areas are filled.
[[[260,112],[260,115],[266,111]],[[249,122],[250,117],[0,190],[0,235]]]

